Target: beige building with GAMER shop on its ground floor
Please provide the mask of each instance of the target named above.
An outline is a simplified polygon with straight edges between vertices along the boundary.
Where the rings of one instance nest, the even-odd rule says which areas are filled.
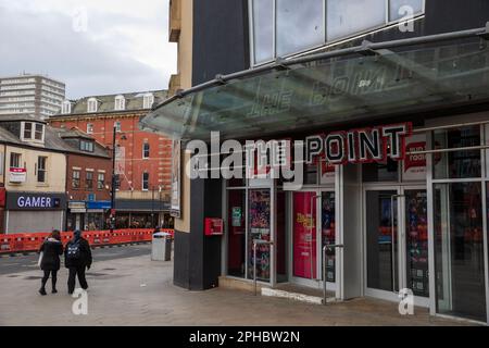
[[[65,145],[30,116],[0,119],[3,201],[0,232],[63,229],[66,211]]]

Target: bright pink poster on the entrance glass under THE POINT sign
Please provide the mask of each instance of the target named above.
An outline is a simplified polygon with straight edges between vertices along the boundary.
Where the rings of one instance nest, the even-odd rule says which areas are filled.
[[[316,277],[316,199],[314,196],[315,192],[293,195],[293,275],[302,278]]]

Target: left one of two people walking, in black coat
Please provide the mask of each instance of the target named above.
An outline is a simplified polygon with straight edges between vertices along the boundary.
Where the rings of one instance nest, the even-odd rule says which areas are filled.
[[[42,252],[42,259],[40,268],[45,271],[45,276],[41,281],[41,288],[39,294],[46,295],[46,283],[51,274],[52,294],[57,294],[57,275],[60,270],[60,256],[63,253],[63,244],[61,243],[61,234],[58,229],[54,229],[51,235],[42,243],[39,248],[39,252]]]

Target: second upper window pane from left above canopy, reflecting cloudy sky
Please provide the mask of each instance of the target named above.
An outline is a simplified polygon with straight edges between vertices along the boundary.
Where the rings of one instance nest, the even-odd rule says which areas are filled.
[[[276,11],[279,57],[324,42],[323,0],[279,0]]]

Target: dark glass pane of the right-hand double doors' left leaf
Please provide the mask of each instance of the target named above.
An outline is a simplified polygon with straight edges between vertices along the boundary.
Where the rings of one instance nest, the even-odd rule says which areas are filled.
[[[373,289],[398,289],[392,274],[398,257],[397,200],[391,200],[396,195],[397,191],[366,192],[367,287]]]

